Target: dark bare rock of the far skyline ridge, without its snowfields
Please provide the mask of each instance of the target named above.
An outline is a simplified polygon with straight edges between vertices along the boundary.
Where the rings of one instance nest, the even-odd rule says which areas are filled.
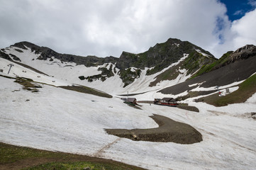
[[[210,52],[203,50],[201,47],[198,47],[194,44],[191,44],[188,41],[182,41],[175,38],[169,38],[166,42],[157,43],[155,46],[150,47],[148,51],[141,52],[138,54],[133,54],[130,52],[122,52],[119,58],[117,57],[96,57],[96,56],[77,56],[77,55],[67,55],[60,54],[51,50],[48,47],[39,47],[38,45],[34,45],[31,42],[17,42],[11,47],[18,47],[23,50],[26,50],[26,47],[29,47],[31,52],[38,54],[39,56],[36,60],[50,60],[53,61],[52,57],[60,60],[61,62],[74,62],[76,64],[84,64],[86,67],[98,67],[99,65],[103,65],[106,63],[115,64],[113,70],[110,69],[100,69],[101,74],[94,74],[88,76],[79,75],[79,79],[94,81],[96,79],[101,79],[101,81],[105,81],[109,77],[114,76],[114,72],[118,69],[118,75],[120,75],[123,81],[123,87],[132,84],[135,79],[140,77],[140,73],[142,69],[151,68],[147,70],[147,75],[152,75],[157,72],[162,71],[162,69],[167,68],[170,64],[178,62],[184,54],[188,54],[191,60],[194,60],[191,64],[191,61],[187,61],[186,68],[189,69],[189,73],[195,72],[201,65],[208,64],[213,61],[210,60],[202,60],[201,58],[208,56],[212,60],[216,60],[216,58],[211,55]],[[204,54],[204,55],[201,55]],[[13,57],[16,57],[15,55]],[[18,57],[16,57],[17,60]],[[15,58],[13,58],[15,60]],[[198,62],[199,61],[199,62]],[[135,67],[135,70],[131,70],[131,67]]]

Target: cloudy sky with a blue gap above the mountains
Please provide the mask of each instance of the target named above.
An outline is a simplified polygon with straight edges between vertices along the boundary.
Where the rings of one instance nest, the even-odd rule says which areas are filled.
[[[72,55],[119,57],[168,38],[216,57],[256,45],[256,0],[0,0],[0,47],[29,41]]]

